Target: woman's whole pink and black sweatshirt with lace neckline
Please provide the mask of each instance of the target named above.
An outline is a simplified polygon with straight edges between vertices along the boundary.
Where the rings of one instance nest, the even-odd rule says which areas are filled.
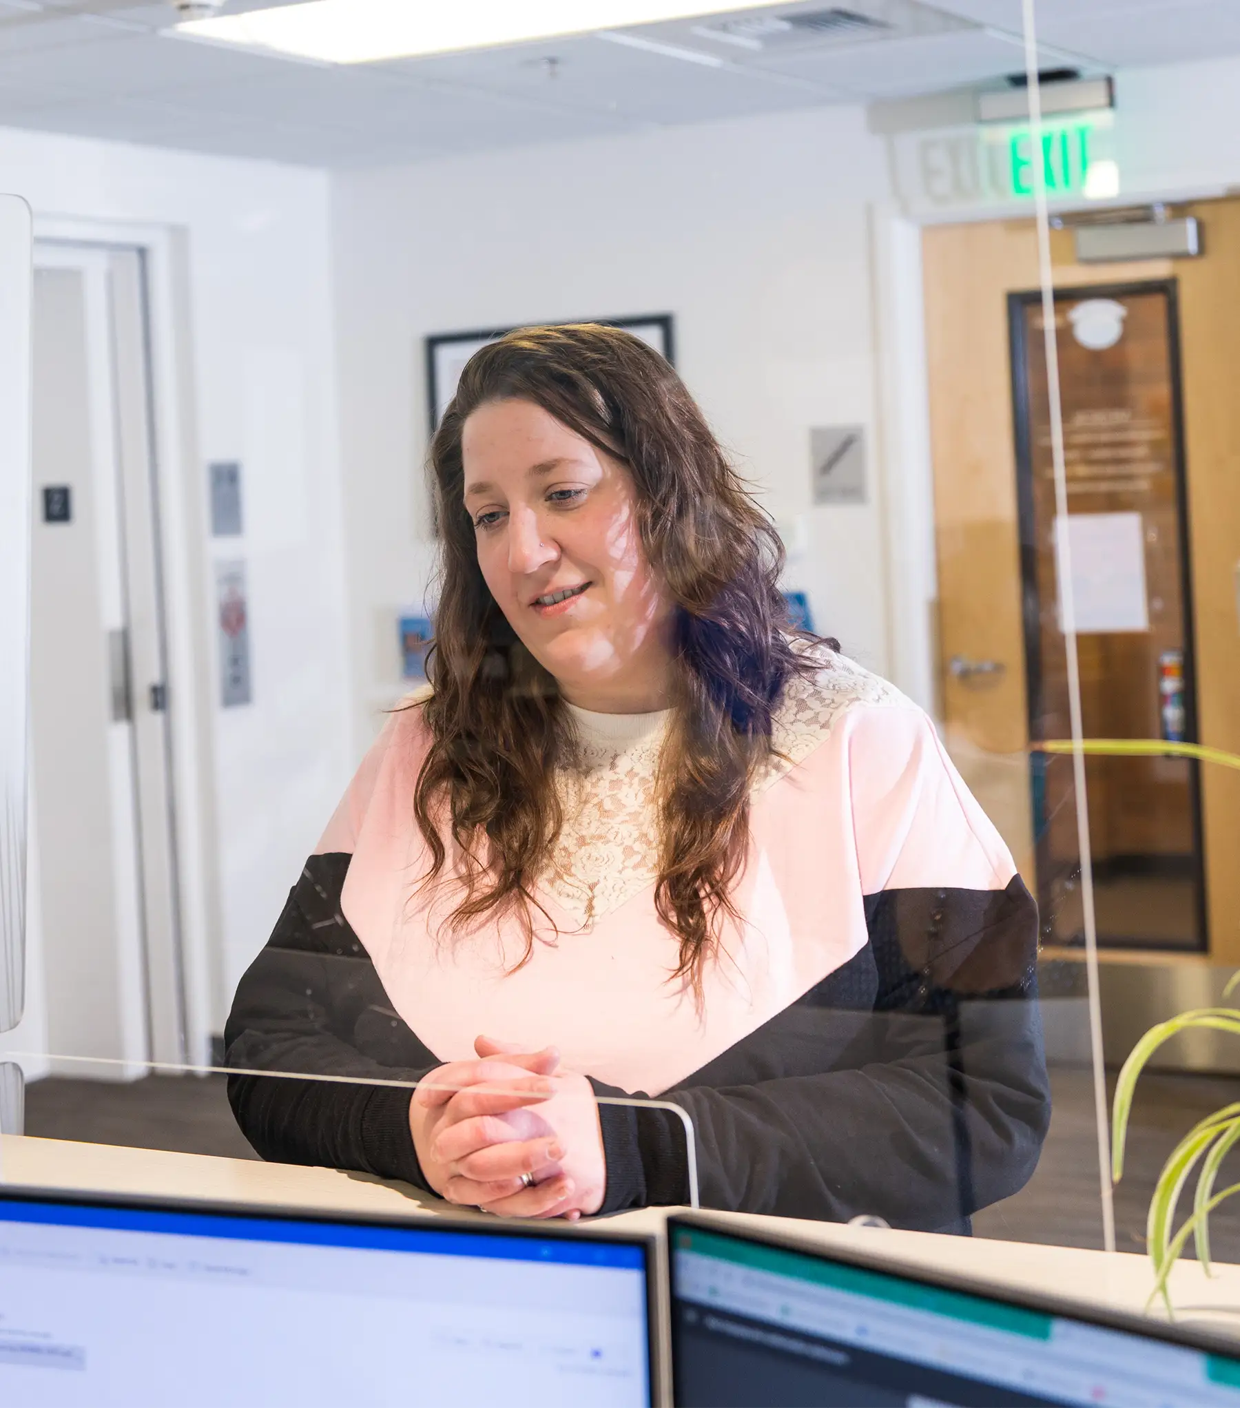
[[[598,1094],[692,1118],[707,1207],[967,1231],[1033,1171],[1050,1100],[1037,914],[926,715],[830,655],[788,684],[756,780],[742,915],[702,973],[654,911],[654,769],[666,715],[569,708],[580,766],[536,888],[464,935],[453,883],[419,887],[422,711],[394,714],[242,979],[228,1063],[418,1080],[479,1033],[553,1043]],[[232,1076],[266,1159],[425,1187],[410,1091]],[[604,1211],[688,1195],[683,1124],[601,1107]]]

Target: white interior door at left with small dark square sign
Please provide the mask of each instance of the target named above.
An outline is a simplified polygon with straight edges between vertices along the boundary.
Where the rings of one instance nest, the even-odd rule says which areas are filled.
[[[46,1045],[63,1074],[182,1059],[137,252],[39,246],[31,743]]]

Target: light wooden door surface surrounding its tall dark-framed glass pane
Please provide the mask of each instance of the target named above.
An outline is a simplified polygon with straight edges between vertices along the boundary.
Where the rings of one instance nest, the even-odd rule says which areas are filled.
[[[1195,210],[1205,258],[1077,265],[1054,231],[1056,287],[1175,279],[1182,339],[1189,576],[1202,742],[1240,752],[1240,201]],[[947,746],[1036,888],[1008,294],[1039,284],[1033,221],[923,237]],[[1240,962],[1240,773],[1202,770],[1210,953]]]

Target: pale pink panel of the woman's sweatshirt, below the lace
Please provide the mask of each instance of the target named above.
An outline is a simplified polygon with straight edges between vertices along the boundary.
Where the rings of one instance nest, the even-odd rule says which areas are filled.
[[[473,1056],[480,1033],[528,1049],[553,1042],[569,1069],[657,1094],[857,955],[868,939],[866,894],[1002,888],[1012,874],[925,715],[854,705],[754,800],[736,893],[745,924],[708,963],[698,1004],[669,979],[677,941],[659,922],[653,884],[588,931],[540,894],[553,924],[536,915],[528,956],[511,917],[450,934],[452,886],[418,887],[428,853],[412,794],[425,748],[419,711],[397,715],[320,849],[352,850],[345,918],[396,1011],[442,1060]]]

